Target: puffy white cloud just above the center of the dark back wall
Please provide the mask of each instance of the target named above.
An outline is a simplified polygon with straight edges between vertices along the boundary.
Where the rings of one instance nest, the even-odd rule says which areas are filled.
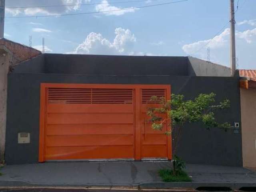
[[[91,32],[84,42],[76,48],[74,54],[105,54],[105,55],[128,55],[136,38],[129,29],[116,28],[115,38],[111,42],[102,34]]]

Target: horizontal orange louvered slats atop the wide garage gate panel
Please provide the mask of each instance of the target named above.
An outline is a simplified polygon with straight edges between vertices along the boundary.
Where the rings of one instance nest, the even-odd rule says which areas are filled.
[[[49,103],[132,104],[132,89],[48,88]]]

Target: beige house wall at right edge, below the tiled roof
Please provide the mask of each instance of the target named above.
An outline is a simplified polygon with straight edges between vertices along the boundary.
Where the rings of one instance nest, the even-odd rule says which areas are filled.
[[[243,166],[256,168],[256,89],[240,89]]]

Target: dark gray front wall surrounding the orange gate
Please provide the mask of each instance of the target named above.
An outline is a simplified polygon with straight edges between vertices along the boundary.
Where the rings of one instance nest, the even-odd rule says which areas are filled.
[[[170,84],[172,93],[191,99],[200,93],[215,92],[217,101],[230,99],[231,108],[219,112],[218,120],[240,122],[238,79],[196,76],[104,76],[64,74],[8,75],[6,163],[38,162],[40,83]],[[18,132],[30,132],[30,144],[17,144]],[[178,155],[187,163],[242,166],[241,134],[218,128],[206,130],[201,124],[186,125]]]

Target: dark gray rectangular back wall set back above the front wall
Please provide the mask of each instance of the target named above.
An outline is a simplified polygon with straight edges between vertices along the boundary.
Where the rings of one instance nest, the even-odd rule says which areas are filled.
[[[46,73],[187,75],[187,57],[45,54]]]

